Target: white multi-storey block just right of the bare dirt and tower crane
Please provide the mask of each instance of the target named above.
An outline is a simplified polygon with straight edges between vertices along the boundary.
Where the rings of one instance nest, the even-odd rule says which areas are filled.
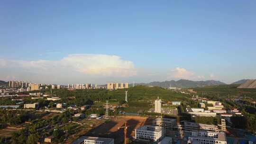
[[[135,138],[152,142],[160,142],[165,137],[165,128],[162,126],[142,126],[135,129]]]

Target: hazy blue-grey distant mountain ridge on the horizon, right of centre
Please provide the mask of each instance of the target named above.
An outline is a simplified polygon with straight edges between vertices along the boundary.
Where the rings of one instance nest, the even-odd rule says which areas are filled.
[[[195,88],[204,87],[211,85],[225,84],[221,81],[190,81],[190,80],[179,80],[179,81],[154,81],[150,83],[136,83],[135,85],[146,85],[146,86],[157,86],[162,88],[177,87],[177,88]]]

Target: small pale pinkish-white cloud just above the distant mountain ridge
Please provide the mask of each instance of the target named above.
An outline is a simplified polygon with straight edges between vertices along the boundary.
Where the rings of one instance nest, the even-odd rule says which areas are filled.
[[[190,72],[184,68],[175,68],[170,72],[167,79],[186,79],[186,80],[204,80],[204,76],[196,75],[194,72]]]

